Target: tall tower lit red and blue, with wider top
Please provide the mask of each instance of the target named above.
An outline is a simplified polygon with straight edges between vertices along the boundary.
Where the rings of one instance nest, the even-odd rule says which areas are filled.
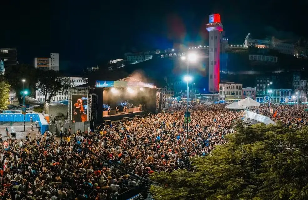
[[[223,24],[220,22],[219,14],[210,15],[206,29],[209,32],[208,90],[218,92],[220,38],[223,31]]]

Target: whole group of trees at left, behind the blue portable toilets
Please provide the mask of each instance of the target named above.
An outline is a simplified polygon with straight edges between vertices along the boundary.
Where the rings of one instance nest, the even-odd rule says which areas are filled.
[[[9,88],[16,91],[16,95],[20,104],[23,102],[23,82],[25,79],[25,88],[29,96],[34,96],[35,90],[40,89],[40,93],[45,97],[45,101],[49,102],[51,97],[57,92],[66,92],[70,86],[70,80],[59,71],[39,70],[28,64],[20,64],[6,68],[5,75],[2,77],[4,83],[9,84]],[[0,93],[5,92],[0,88]],[[5,93],[8,97],[8,91]],[[1,100],[8,102],[8,98],[0,96]],[[5,107],[0,105],[0,108]]]

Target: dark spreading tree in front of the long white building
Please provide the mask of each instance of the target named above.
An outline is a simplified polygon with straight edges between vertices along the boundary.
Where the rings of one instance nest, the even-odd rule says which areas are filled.
[[[68,77],[62,77],[59,71],[39,70],[36,89],[45,97],[45,102],[50,102],[51,97],[57,93],[67,92],[71,82]]]

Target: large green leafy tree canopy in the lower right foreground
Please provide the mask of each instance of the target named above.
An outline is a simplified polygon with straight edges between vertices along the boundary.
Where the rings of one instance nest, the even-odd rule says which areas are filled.
[[[237,124],[193,172],[151,174],[155,199],[308,199],[308,127]]]

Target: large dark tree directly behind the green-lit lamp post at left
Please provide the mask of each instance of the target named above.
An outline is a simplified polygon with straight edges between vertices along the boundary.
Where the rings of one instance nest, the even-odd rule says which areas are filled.
[[[28,64],[13,65],[5,69],[5,78],[11,85],[12,89],[15,90],[16,96],[20,104],[23,103],[23,82],[25,79],[25,89],[28,90],[29,95],[33,95],[35,84],[37,83],[37,70]]]

